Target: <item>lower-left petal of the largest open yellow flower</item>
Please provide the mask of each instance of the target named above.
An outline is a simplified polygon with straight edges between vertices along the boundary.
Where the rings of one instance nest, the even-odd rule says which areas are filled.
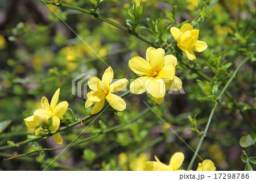
[[[135,79],[135,81],[131,82],[130,84],[130,91],[133,94],[143,94],[146,90],[144,89],[145,87],[145,82],[147,81],[148,77],[143,76]]]

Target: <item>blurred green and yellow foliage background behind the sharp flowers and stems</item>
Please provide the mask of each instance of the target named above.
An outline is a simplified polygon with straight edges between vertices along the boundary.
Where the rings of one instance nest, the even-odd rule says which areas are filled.
[[[57,1],[56,1],[57,2]],[[86,10],[93,9],[88,0],[61,0]],[[154,1],[144,0],[146,10],[142,19],[168,19],[164,10],[177,6],[176,20],[192,22],[200,14],[197,2],[209,5],[210,1]],[[193,68],[203,70],[209,77],[216,76],[211,83],[216,84],[214,94],[218,95],[230,74],[241,61],[255,50],[255,1],[221,0],[211,7],[205,19],[194,23],[200,28],[200,40],[208,44],[208,49],[197,53],[193,62],[183,56]],[[126,25],[129,19],[127,10],[133,1],[105,0],[98,8],[99,13],[118,24]],[[137,78],[128,67],[128,61],[134,56],[145,56],[147,43],[108,23],[82,12],[50,6],[107,64],[114,70],[114,78]],[[27,128],[23,118],[31,116],[40,108],[40,99],[51,99],[57,88],[61,87],[60,100],[67,100],[69,108],[77,117],[89,115],[85,109],[85,99],[71,94],[71,81],[77,75],[86,73],[101,77],[107,66],[75,35],[51,10],[36,0],[3,0],[0,2],[0,146],[27,139],[34,133]],[[168,22],[164,22],[168,24]],[[144,22],[140,26],[148,27]],[[155,41],[143,28],[137,32]],[[170,29],[167,32],[170,34]],[[171,36],[170,36],[171,37]],[[168,40],[171,43],[172,39]],[[248,61],[232,82],[229,92],[241,109],[256,124],[255,113],[255,58]],[[188,116],[197,114],[197,128],[203,131],[213,108],[212,96],[197,81],[205,81],[192,70],[178,64],[176,75],[183,81],[185,94],[174,92],[166,95],[161,106],[153,106],[159,116],[192,149],[195,150],[200,136],[192,132]],[[86,129],[76,141],[83,140],[114,125],[128,123],[141,113],[153,101],[147,94],[126,96],[127,110],[115,113],[106,110]],[[68,123],[61,123],[64,126]],[[88,125],[77,125],[61,133],[63,145],[68,145]],[[243,170],[240,138],[250,134],[255,137],[251,126],[230,99],[224,98],[214,113],[207,137],[201,146],[199,155],[211,159],[217,170]],[[26,157],[3,161],[3,158],[26,153],[37,148],[57,148],[52,137],[25,144],[18,148],[0,151],[0,170],[43,170],[61,150],[35,153]],[[181,151],[185,155],[183,168],[186,169],[193,151],[177,137],[153,112],[119,128],[113,132],[100,134],[92,140],[72,146],[65,150],[49,170],[143,170],[146,161],[153,161],[154,155],[168,164],[171,155]],[[247,155],[255,156],[255,145],[246,149]],[[197,163],[196,159],[193,169]],[[252,165],[254,169],[255,165]]]

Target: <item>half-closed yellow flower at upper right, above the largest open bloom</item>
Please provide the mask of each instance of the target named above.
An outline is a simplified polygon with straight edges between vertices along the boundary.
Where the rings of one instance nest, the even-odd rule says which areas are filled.
[[[193,51],[203,52],[207,49],[207,44],[204,41],[198,40],[199,30],[193,30],[189,23],[183,24],[180,28],[171,27],[171,34],[177,40],[177,46],[187,54],[189,60],[196,60]]]

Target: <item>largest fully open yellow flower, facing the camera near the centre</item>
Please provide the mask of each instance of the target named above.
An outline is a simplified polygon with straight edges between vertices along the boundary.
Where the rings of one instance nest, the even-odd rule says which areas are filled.
[[[157,104],[162,104],[166,88],[179,90],[182,87],[182,82],[175,76],[176,64],[177,58],[170,54],[164,56],[162,48],[148,48],[146,60],[138,56],[131,58],[129,68],[135,74],[143,75],[131,82],[131,93],[143,94],[147,91]]]

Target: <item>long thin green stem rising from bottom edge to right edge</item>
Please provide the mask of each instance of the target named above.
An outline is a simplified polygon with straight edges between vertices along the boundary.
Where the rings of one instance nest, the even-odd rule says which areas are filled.
[[[199,141],[199,144],[197,145],[197,148],[196,148],[196,151],[195,151],[195,154],[193,155],[192,159],[191,159],[191,162],[189,163],[188,165],[188,169],[187,170],[191,170],[192,166],[193,166],[193,163],[195,162],[195,159],[196,159],[196,156],[198,155],[199,153],[199,150],[201,148],[201,145],[204,141],[204,138],[206,137],[206,134],[207,134],[207,131],[208,131],[208,128],[210,126],[210,122],[212,121],[212,117],[213,117],[213,113],[214,111],[216,110],[216,107],[218,106],[218,103],[221,102],[221,99],[222,97],[224,96],[226,90],[228,90],[228,87],[230,86],[231,82],[233,81],[233,79],[236,77],[238,71],[242,68],[243,65],[245,65],[245,63],[250,60],[250,57],[246,57],[245,60],[242,61],[242,63],[236,68],[236,70],[233,72],[233,74],[230,76],[228,82],[226,82],[224,88],[222,89],[222,91],[220,92],[220,95],[218,95],[218,98],[217,98],[217,102],[214,104],[214,107],[212,109],[212,111],[210,112],[210,116],[209,116],[209,119],[208,119],[208,122],[207,122],[207,126],[205,127],[205,130],[204,130],[204,133],[203,135],[201,136],[200,138],[200,141]]]

